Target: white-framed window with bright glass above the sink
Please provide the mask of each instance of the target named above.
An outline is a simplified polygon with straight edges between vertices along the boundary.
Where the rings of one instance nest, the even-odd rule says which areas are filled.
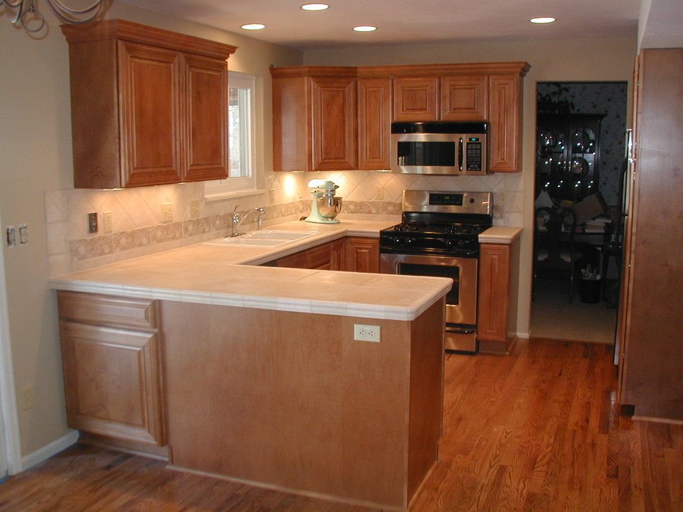
[[[228,179],[206,181],[205,197],[221,197],[255,190],[255,77],[228,72]]]

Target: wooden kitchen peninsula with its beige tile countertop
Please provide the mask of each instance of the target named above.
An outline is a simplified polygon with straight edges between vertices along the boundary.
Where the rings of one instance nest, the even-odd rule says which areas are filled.
[[[315,233],[51,279],[70,426],[179,469],[406,509],[437,460],[451,280],[259,266],[389,225],[281,224]],[[354,339],[368,324],[379,343]]]

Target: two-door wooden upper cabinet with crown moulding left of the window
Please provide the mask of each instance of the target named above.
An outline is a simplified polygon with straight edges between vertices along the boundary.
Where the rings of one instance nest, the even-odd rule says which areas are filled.
[[[76,188],[227,176],[226,59],[234,46],[122,20],[61,30]]]

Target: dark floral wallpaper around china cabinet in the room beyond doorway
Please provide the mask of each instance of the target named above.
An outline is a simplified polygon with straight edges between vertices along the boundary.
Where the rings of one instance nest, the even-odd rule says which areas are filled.
[[[619,202],[626,132],[626,82],[539,82],[538,96],[567,88],[561,100],[576,114],[604,114],[600,125],[600,192],[609,205]]]

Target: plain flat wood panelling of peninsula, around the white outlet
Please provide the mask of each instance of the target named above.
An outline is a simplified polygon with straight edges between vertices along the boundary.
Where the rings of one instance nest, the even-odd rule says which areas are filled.
[[[366,318],[161,302],[172,466],[406,509],[437,462],[443,315],[367,343]]]

